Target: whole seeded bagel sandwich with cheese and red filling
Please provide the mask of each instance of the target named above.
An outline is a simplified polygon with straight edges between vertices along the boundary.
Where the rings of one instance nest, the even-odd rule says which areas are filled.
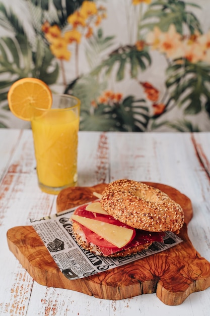
[[[179,233],[184,224],[182,207],[142,182],[113,181],[98,197],[71,218],[76,242],[97,255],[134,254],[162,242],[166,231]]]

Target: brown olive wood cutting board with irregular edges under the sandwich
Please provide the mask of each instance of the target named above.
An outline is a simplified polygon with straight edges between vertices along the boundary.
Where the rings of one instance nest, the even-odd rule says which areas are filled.
[[[210,286],[210,263],[194,249],[187,235],[192,218],[190,199],[175,188],[146,182],[178,202],[185,215],[179,236],[182,243],[121,267],[78,280],[68,280],[59,270],[32,226],[7,232],[8,245],[31,277],[39,284],[70,289],[97,298],[119,300],[155,293],[167,305],[181,304],[191,293]],[[57,196],[57,212],[95,200],[106,184],[63,189]]]

